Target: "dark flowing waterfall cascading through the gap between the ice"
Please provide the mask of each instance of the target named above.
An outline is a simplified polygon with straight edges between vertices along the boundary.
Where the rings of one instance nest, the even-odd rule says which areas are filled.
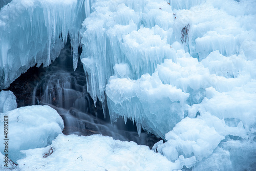
[[[50,105],[62,117],[63,133],[102,134],[122,141],[135,141],[152,147],[159,138],[147,132],[138,136],[136,124],[122,119],[112,125],[108,110],[106,118],[99,102],[94,106],[87,92],[86,77],[79,61],[73,70],[70,45],[62,49],[59,57],[47,68],[31,68],[15,80],[8,90],[13,91],[19,106]]]

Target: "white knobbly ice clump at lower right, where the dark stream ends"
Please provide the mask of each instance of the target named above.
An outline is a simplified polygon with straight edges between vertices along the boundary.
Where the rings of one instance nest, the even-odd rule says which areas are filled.
[[[177,160],[180,154],[186,158],[194,154],[201,161],[212,154],[224,136],[219,135],[214,127],[205,124],[204,120],[186,117],[166,134],[165,139],[168,141],[157,150],[170,161]]]

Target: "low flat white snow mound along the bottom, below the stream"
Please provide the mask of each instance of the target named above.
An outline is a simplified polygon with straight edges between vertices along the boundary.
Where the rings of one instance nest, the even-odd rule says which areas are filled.
[[[102,135],[60,134],[51,147],[55,151],[47,158],[42,156],[50,146],[22,151],[26,158],[17,161],[20,170],[172,170],[180,167],[147,146]]]

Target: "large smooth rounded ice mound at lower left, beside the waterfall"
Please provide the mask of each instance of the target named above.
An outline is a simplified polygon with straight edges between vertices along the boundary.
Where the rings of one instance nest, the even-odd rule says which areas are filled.
[[[4,133],[4,116],[8,116],[8,157],[12,161],[24,157],[20,150],[45,147],[64,128],[59,114],[48,105],[26,106],[7,113],[1,113],[1,132]],[[1,135],[2,140],[4,134]],[[5,144],[0,144],[4,153]]]

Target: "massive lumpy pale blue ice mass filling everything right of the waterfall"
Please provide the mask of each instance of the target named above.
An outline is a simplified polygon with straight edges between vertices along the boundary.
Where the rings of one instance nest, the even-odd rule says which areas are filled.
[[[167,140],[155,148],[172,162],[183,157],[196,170],[255,168],[248,157],[256,157],[255,7],[95,1],[80,31],[89,93],[107,99],[112,122],[129,118],[138,132],[141,126]],[[219,156],[227,165],[212,163]]]

